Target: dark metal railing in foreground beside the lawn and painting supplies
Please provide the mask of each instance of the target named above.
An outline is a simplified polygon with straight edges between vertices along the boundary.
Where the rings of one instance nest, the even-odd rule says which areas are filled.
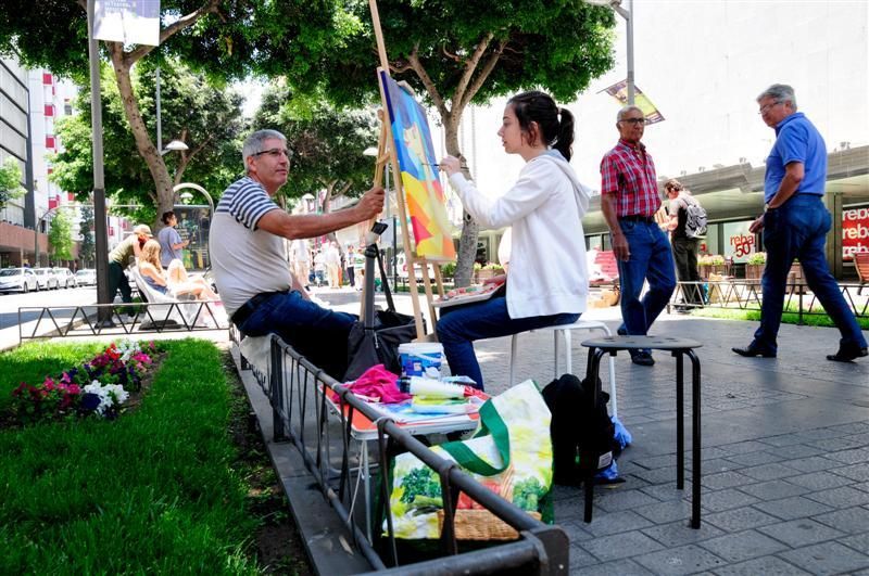
[[[239,342],[240,334],[235,328],[230,329],[230,337]],[[295,446],[323,496],[350,530],[354,546],[375,569],[383,571],[389,566],[391,569],[388,572],[392,573],[451,575],[506,569],[521,569],[522,574],[567,573],[569,541],[564,530],[531,517],[480,485],[462,472],[455,462],[439,457],[392,420],[382,418],[279,337],[272,336],[269,366],[251,366],[251,369],[269,399],[275,440],[288,440]],[[327,402],[327,391],[337,394],[337,409]],[[439,475],[444,495],[444,522],[439,540],[443,555],[437,560],[407,563],[400,559],[389,505],[390,487],[388,483],[379,482],[375,483],[379,485],[371,490],[374,494],[368,491],[369,470],[363,466],[367,445],[356,443],[352,436],[354,412],[364,414],[377,425],[377,438],[371,440],[376,446],[377,463],[371,468],[389,470],[390,459],[407,451]],[[358,465],[352,465],[352,462]],[[361,485],[365,486],[362,494]],[[516,529],[519,539],[459,553],[454,532],[459,492]],[[383,519],[385,529],[381,529],[381,521],[369,517],[369,500],[365,500],[365,510],[360,508],[360,498],[374,496],[379,496],[374,519]]]

